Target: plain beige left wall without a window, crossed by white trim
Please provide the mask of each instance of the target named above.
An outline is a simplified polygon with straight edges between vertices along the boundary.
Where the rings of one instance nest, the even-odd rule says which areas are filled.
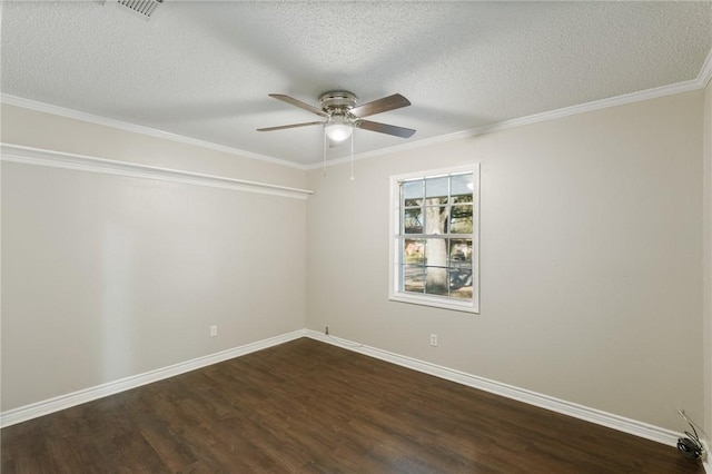
[[[304,185],[301,170],[73,119],[2,118],[6,142]],[[2,411],[304,328],[305,213],[304,199],[3,162]]]

